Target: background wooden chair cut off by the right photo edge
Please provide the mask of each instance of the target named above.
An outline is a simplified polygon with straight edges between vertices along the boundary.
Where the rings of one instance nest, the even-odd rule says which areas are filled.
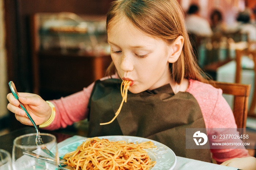
[[[251,101],[251,106],[248,111],[249,117],[256,117],[256,42],[249,43],[248,47],[244,49],[236,49],[236,83],[241,83],[242,75],[242,56],[248,56],[252,58],[254,62],[254,92]]]

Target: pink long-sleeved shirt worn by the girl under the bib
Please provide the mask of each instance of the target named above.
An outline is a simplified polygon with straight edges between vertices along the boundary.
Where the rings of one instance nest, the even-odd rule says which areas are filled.
[[[56,116],[54,121],[44,129],[65,128],[67,125],[86,119],[89,112],[87,105],[93,86],[94,83],[78,93],[61,97],[59,100],[52,100],[51,102],[56,107]],[[196,80],[189,80],[189,87],[186,92],[191,93],[196,98],[206,128],[237,128],[233,112],[223,98],[221,89],[216,89]],[[245,149],[211,149],[211,152],[212,158],[218,163],[232,158],[249,156]]]

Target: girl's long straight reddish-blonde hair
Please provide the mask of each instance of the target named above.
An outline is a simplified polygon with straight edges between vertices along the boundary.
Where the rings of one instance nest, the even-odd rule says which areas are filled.
[[[195,61],[192,46],[185,27],[184,13],[177,0],[117,0],[107,13],[106,29],[126,17],[135,27],[150,36],[172,43],[178,36],[184,37],[180,57],[170,63],[170,73],[178,84],[183,78],[207,82]],[[116,72],[113,62],[107,74]]]

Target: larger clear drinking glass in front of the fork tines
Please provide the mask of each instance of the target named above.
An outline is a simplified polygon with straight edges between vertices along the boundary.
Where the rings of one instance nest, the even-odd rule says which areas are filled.
[[[58,169],[59,156],[57,149],[56,137],[52,134],[40,133],[39,134],[44,142],[44,145],[37,145],[35,140],[37,134],[26,134],[14,139],[12,149],[12,167],[14,170],[56,170]],[[53,154],[54,157],[46,154],[41,148],[47,147]],[[39,159],[37,157],[31,157],[26,153],[35,153],[47,158],[52,161]]]

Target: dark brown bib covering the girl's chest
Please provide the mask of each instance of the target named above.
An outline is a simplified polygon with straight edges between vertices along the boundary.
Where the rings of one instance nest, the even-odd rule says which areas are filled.
[[[96,81],[89,103],[89,137],[106,135],[139,136],[161,142],[177,156],[211,162],[210,149],[186,149],[186,128],[205,128],[199,104],[192,94],[174,95],[169,84],[154,90],[128,92],[116,120],[122,96],[121,80]]]

